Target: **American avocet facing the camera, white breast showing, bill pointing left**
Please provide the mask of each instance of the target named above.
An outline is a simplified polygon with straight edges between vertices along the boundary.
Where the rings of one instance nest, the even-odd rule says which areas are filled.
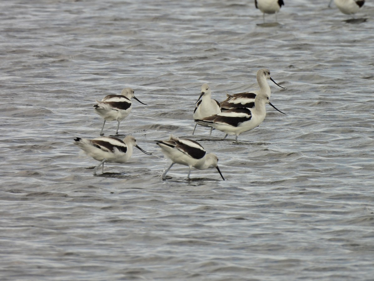
[[[193,119],[194,120],[204,118],[204,117],[208,117],[208,116],[218,114],[218,113],[221,112],[220,103],[217,102],[217,100],[211,99],[211,97],[212,97],[212,91],[211,91],[209,85],[208,84],[203,84],[201,86],[200,97],[199,97],[199,99],[197,99],[196,108],[193,112]],[[197,124],[199,124],[200,126],[204,126],[204,127],[210,127],[211,132],[210,132],[209,136],[212,135],[213,127],[207,125],[206,123],[199,123],[199,122],[196,122],[195,127],[194,127],[193,132],[192,132],[192,135],[195,132]]]

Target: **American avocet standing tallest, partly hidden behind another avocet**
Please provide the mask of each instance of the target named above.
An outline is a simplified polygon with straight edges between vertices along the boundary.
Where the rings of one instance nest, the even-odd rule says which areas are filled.
[[[252,108],[255,106],[255,97],[257,94],[266,94],[270,98],[271,90],[270,86],[267,83],[267,79],[270,79],[275,83],[275,85],[285,89],[281,85],[278,85],[271,77],[270,77],[270,70],[267,68],[262,68],[257,70],[257,83],[260,87],[260,90],[244,92],[239,94],[227,94],[227,99],[221,102],[221,108],[224,110],[232,109],[232,108]]]

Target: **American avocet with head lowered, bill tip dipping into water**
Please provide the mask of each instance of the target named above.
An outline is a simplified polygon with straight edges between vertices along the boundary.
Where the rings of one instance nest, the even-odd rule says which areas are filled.
[[[175,164],[182,164],[188,166],[187,178],[190,178],[191,168],[195,167],[199,170],[205,170],[210,166],[216,167],[223,180],[224,177],[218,168],[217,155],[213,153],[206,153],[205,149],[197,142],[190,139],[174,138],[170,135],[167,141],[156,141],[160,146],[163,154],[169,158],[172,163],[168,169],[162,174],[162,179],[166,179],[166,173]]]

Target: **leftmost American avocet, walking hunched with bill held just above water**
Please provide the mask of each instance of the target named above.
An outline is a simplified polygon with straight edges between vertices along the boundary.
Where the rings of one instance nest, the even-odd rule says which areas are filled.
[[[127,162],[132,155],[133,146],[145,154],[151,155],[151,153],[144,151],[136,144],[133,136],[126,136],[123,141],[113,137],[98,137],[95,139],[75,138],[74,144],[79,146],[88,156],[101,161],[93,169],[93,175],[96,175],[96,170],[99,169],[100,165],[102,165],[102,172],[104,173],[105,162]]]

